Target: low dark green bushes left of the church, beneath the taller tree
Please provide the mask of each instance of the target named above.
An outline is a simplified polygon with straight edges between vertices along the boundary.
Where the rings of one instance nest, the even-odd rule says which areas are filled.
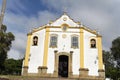
[[[7,59],[4,63],[5,64],[4,74],[20,75],[22,69],[22,61],[23,59],[19,60]]]

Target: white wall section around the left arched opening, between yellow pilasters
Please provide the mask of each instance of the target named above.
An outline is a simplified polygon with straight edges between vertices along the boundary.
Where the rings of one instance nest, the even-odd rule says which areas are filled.
[[[38,73],[38,67],[43,64],[45,29],[33,33],[32,38],[34,36],[38,37],[38,45],[33,46],[31,44],[30,47],[29,73]]]

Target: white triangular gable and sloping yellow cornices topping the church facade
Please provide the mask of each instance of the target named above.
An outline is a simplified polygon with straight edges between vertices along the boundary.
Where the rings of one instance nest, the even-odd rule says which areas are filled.
[[[81,24],[81,22],[75,22],[73,19],[71,19],[66,13],[64,13],[60,18],[56,19],[55,21],[50,21],[48,24],[38,27],[32,30],[33,32],[39,31],[41,29],[44,29],[46,27],[50,28],[56,28],[61,27],[62,25],[68,25],[70,28],[83,28],[84,30],[93,33],[95,35],[99,35],[96,30],[91,30],[90,28],[84,26]],[[99,35],[100,36],[100,35]]]

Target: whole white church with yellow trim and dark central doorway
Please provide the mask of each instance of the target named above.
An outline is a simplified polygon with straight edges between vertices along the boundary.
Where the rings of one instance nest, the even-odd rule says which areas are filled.
[[[104,80],[102,36],[64,13],[27,34],[22,75]]]

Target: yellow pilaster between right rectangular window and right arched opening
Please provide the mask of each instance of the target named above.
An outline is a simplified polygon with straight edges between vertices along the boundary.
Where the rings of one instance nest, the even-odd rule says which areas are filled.
[[[80,28],[80,68],[84,68],[84,33]]]

